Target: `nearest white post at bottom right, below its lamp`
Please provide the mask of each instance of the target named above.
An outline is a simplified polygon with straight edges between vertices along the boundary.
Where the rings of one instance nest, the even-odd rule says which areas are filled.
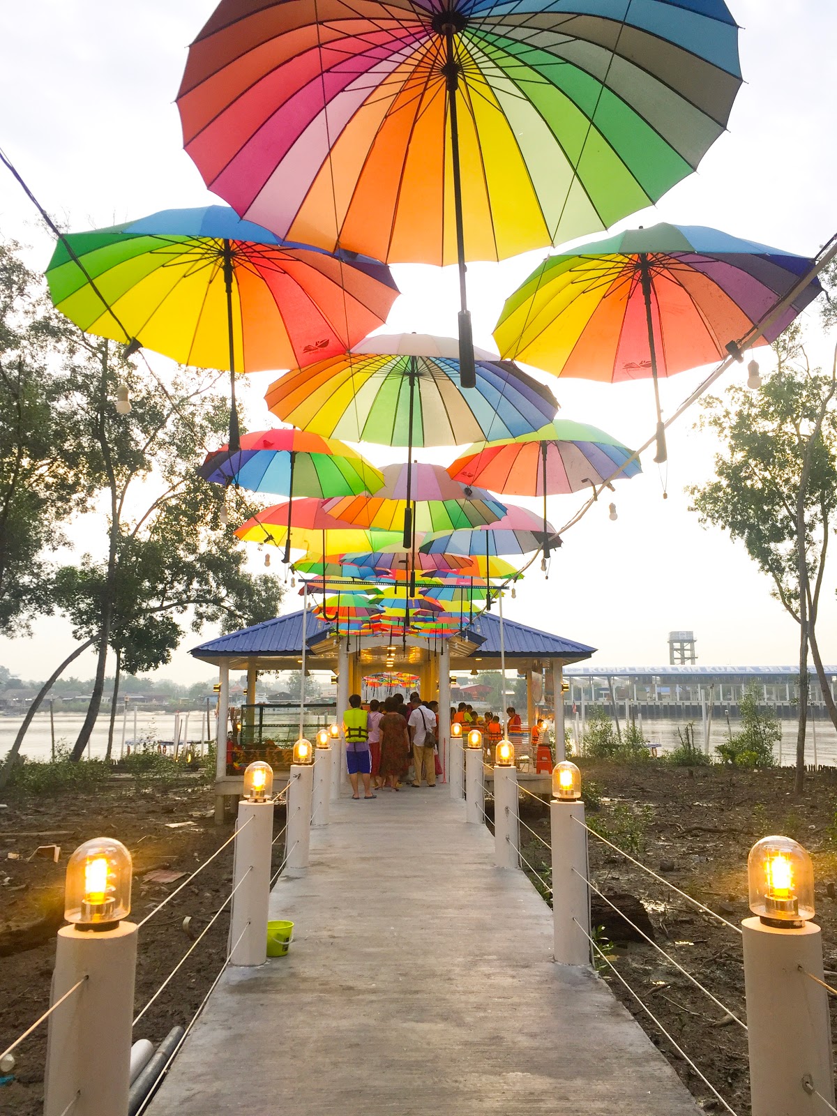
[[[825,979],[820,929],[779,930],[757,917],[741,925],[752,1116],[822,1116],[805,1083],[834,1105],[828,993],[799,972]]]

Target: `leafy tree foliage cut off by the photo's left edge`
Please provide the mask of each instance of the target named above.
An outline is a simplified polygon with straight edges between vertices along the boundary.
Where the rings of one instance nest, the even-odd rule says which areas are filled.
[[[0,241],[0,631],[51,610],[49,552],[89,507],[94,478],[70,400],[78,330]]]

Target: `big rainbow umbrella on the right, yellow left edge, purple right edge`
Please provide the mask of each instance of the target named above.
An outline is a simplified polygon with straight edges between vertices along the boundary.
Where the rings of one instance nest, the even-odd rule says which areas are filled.
[[[812,261],[700,225],[655,224],[548,257],[503,306],[494,337],[559,376],[652,377],[655,461],[665,461],[660,376],[732,352]],[[812,280],[757,344],[776,340],[821,291]]]

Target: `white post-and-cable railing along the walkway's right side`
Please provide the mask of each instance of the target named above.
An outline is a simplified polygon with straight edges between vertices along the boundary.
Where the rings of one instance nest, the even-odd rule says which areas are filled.
[[[504,859],[508,858],[508,844],[512,840],[511,834],[518,831],[517,827],[527,834],[530,844],[537,843],[542,852],[549,854],[550,868],[546,869],[530,863],[518,848],[514,866],[529,876],[552,907],[555,960],[565,964],[588,965],[618,981],[625,993],[637,1004],[639,1012],[652,1021],[654,1028],[703,1083],[714,1100],[724,1112],[735,1116],[730,1101],[698,1065],[696,1055],[694,1052],[690,1055],[684,1049],[682,1040],[679,1042],[673,1038],[643,995],[607,955],[606,949],[603,949],[605,943],[597,940],[590,920],[589,901],[591,895],[596,895],[614,915],[625,922],[637,940],[645,942],[655,951],[663,965],[685,978],[700,994],[719,1009],[722,1013],[721,1023],[737,1026],[748,1035],[753,1116],[766,1116],[775,1110],[810,1113],[811,1116],[816,1116],[818,1112],[837,1113],[837,1107],[834,1105],[831,1049],[827,1003],[825,1003],[827,995],[837,997],[837,988],[824,979],[829,974],[824,974],[821,969],[822,950],[818,927],[809,923],[805,932],[779,930],[777,934],[776,930],[764,926],[758,918],[747,920],[743,926],[734,925],[588,826],[580,801],[554,800],[550,804],[551,833],[550,840],[547,840],[541,833],[520,817],[519,809],[521,796],[523,799],[529,798],[538,802],[541,808],[545,805],[543,799],[533,795],[528,788],[519,786],[517,773],[510,776],[508,771],[508,768],[482,764],[483,793],[485,772],[491,772],[493,776],[494,816],[491,818],[484,809],[480,812],[482,820],[494,836],[498,865],[508,865],[508,859]],[[507,799],[501,816],[498,797],[503,779],[510,779],[517,792],[513,798]],[[490,796],[487,798],[491,800]],[[514,814],[517,816],[513,816]],[[747,1020],[608,898],[589,870],[587,845],[590,837],[612,854],[623,857],[645,873],[650,879],[665,887],[676,896],[677,902],[690,904],[702,917],[713,920],[743,942]],[[507,846],[504,849],[503,843]],[[806,992],[804,987],[806,982],[814,989],[822,990],[819,1000],[816,994],[812,997],[810,992]],[[777,991],[776,985],[779,983],[781,992]],[[781,1010],[777,1007],[779,1003],[782,1004]],[[781,1058],[775,1056],[777,1050],[782,1050]]]

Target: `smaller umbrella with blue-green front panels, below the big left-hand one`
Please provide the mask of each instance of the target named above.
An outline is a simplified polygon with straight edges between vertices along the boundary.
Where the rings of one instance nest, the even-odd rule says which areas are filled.
[[[240,449],[224,445],[199,470],[204,480],[217,484],[233,483],[253,492],[287,494],[288,527],[312,526],[308,518],[295,520],[294,496],[339,497],[375,490],[384,474],[360,454],[334,437],[321,437],[302,430],[266,430],[244,434]],[[320,509],[311,509],[314,517]],[[323,518],[323,517],[321,517]],[[323,526],[337,527],[323,518]],[[346,521],[344,527],[354,526]],[[290,540],[283,560],[290,559]]]

